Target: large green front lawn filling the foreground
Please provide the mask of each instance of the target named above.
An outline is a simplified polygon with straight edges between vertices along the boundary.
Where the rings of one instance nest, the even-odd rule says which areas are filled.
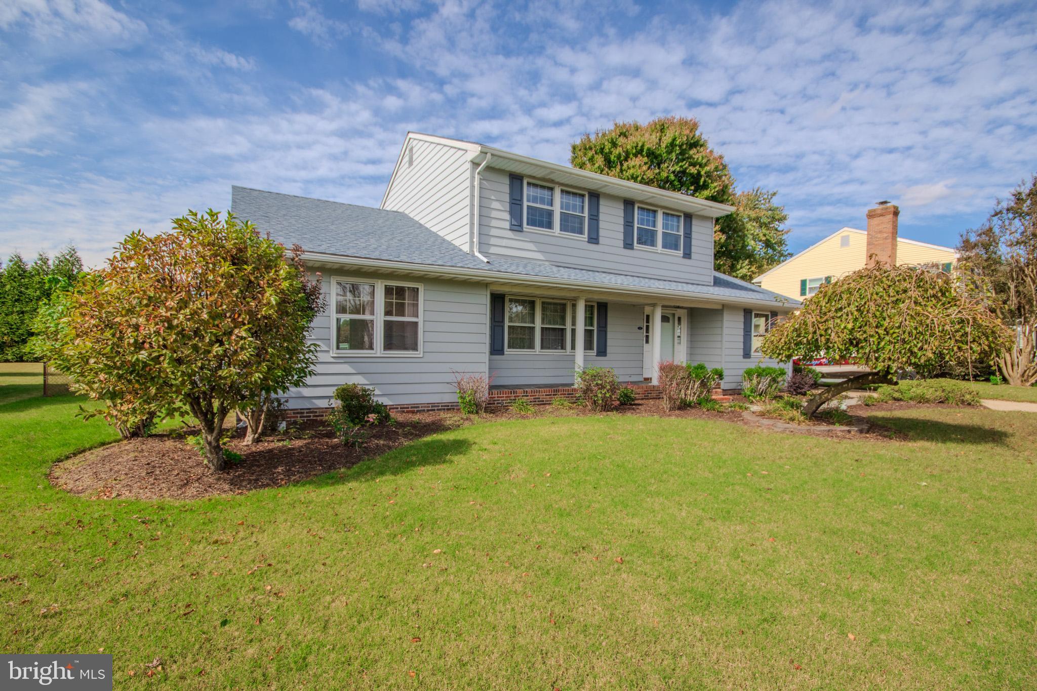
[[[53,489],[114,437],[77,405],[0,406],[0,647],[103,649],[117,688],[1037,685],[1037,415],[493,423],[177,503]]]

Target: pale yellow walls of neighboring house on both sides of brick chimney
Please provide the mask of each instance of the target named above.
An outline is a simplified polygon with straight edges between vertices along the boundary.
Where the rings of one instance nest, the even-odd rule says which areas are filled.
[[[895,226],[893,233],[895,237]],[[831,283],[841,276],[864,268],[867,261],[867,231],[842,228],[756,277],[753,283],[793,299],[809,297],[817,292],[822,283]],[[896,240],[897,264],[935,264],[942,270],[950,271],[956,259],[957,255],[951,248],[902,237]]]

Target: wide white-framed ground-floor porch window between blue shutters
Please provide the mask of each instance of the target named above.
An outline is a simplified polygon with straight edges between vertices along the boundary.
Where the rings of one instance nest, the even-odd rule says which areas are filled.
[[[596,306],[587,304],[582,317],[576,303],[535,297],[507,297],[505,308],[509,352],[574,352],[578,346],[593,352]]]

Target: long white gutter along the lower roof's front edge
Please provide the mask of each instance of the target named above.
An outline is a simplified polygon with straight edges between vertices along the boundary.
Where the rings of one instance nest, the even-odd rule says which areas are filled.
[[[597,283],[594,281],[572,281],[564,279],[549,279],[543,277],[528,276],[526,273],[508,273],[505,271],[494,271],[484,268],[458,268],[455,266],[433,266],[430,264],[414,264],[401,261],[389,261],[386,259],[367,259],[364,257],[347,257],[343,255],[328,254],[325,252],[303,252],[303,256],[314,261],[328,262],[330,264],[352,264],[356,266],[370,266],[372,268],[386,268],[395,270],[415,271],[419,273],[430,273],[444,278],[467,278],[482,279],[487,283],[517,283],[539,287],[565,286],[571,288],[582,288],[585,290],[597,290],[599,292],[620,292],[637,293],[639,295],[650,295],[652,297],[670,297],[674,299],[705,299],[725,305],[746,305],[751,307],[784,307],[794,310],[800,307],[796,300],[789,299],[781,303],[776,299],[752,299],[729,295],[718,295],[716,293],[692,293],[674,290],[662,290],[658,288],[638,288],[635,286],[619,286],[612,283]],[[794,305],[793,305],[794,304]]]

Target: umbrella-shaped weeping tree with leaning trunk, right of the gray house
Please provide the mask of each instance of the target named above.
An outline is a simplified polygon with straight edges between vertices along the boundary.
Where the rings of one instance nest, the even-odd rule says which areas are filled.
[[[824,403],[860,386],[897,382],[899,372],[922,376],[949,365],[989,362],[1011,334],[983,300],[935,270],[878,264],[822,285],[806,305],[763,339],[767,357],[852,358],[872,372],[829,386],[807,401]]]

